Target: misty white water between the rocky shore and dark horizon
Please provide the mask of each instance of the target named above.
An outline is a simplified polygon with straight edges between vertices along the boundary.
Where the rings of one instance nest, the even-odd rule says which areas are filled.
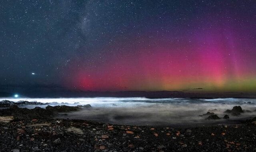
[[[6,98],[0,98],[6,100]],[[256,99],[248,98],[216,98],[216,99],[190,99],[190,98],[8,98],[10,101],[36,101],[51,103],[51,105],[86,105],[78,112],[68,113],[68,116],[58,118],[93,120],[112,124],[134,125],[186,125],[186,124],[224,124],[238,123],[238,120],[256,116]],[[230,116],[229,120],[205,120],[198,116],[206,112],[214,112],[219,117],[225,115],[224,111],[234,106],[241,106],[243,110],[250,110],[239,117]],[[42,106],[44,108],[45,106]],[[26,108],[34,108],[27,106]]]

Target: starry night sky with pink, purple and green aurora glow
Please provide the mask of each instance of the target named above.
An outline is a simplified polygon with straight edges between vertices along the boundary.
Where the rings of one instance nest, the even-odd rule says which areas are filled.
[[[256,1],[2,0],[0,85],[256,92]]]

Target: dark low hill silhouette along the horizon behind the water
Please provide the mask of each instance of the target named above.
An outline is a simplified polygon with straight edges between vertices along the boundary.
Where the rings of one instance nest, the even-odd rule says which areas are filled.
[[[256,98],[255,94],[242,92],[193,93],[181,91],[118,91],[98,92],[65,89],[32,89],[20,92],[0,92],[0,97],[12,97],[14,93],[30,98],[68,98],[68,97],[146,97],[146,98]]]

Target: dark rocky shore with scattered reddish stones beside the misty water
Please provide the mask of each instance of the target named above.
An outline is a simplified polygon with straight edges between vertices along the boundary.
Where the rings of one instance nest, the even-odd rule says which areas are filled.
[[[216,152],[256,151],[256,118],[241,124],[176,128],[172,126],[128,126],[86,120],[54,119],[63,112],[90,106],[47,106],[34,109],[12,104],[0,110],[0,151],[104,151],[104,152]],[[239,116],[240,106],[219,117],[214,112],[201,116],[227,119]]]

